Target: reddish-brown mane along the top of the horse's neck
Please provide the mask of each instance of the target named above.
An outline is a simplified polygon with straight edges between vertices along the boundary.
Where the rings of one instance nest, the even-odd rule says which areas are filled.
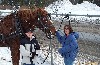
[[[23,19],[34,18],[37,14],[47,15],[47,11],[44,8],[35,8],[35,9],[21,9],[18,11],[18,15],[22,16]]]

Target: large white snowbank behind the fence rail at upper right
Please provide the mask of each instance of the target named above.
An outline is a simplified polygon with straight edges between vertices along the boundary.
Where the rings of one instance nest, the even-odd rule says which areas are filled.
[[[96,4],[84,1],[82,4],[72,5],[69,0],[57,1],[45,8],[49,13],[57,14],[78,14],[78,15],[100,15],[100,7]],[[56,17],[52,15],[53,17]],[[82,16],[72,16],[73,18],[82,18]],[[87,18],[87,17],[84,17]],[[89,18],[89,17],[88,17]],[[98,19],[93,17],[91,19]]]

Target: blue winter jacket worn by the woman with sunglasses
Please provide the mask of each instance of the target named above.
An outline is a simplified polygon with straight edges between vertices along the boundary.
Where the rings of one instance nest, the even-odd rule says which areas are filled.
[[[62,55],[62,57],[71,58],[74,61],[78,53],[77,39],[79,38],[79,34],[73,32],[66,36],[63,32],[58,30],[56,32],[56,36],[58,41],[62,44],[62,48],[60,48],[58,52]]]

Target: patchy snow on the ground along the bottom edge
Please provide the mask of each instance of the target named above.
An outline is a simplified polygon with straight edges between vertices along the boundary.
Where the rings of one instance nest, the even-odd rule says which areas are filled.
[[[50,51],[42,50],[41,55],[35,56],[33,60],[34,64],[35,65],[51,65],[51,53],[47,54],[47,52],[50,52]],[[82,53],[80,55],[84,56]],[[85,56],[89,57],[89,55],[85,55]],[[45,60],[46,57],[47,59]],[[45,62],[43,63],[44,60]],[[83,59],[83,57],[76,58],[73,65],[91,65],[89,64],[91,62],[87,62],[87,61],[88,59],[86,58]],[[63,58],[60,56],[60,54],[57,51],[53,52],[53,64],[54,65],[64,65]],[[12,59],[11,59],[11,51],[8,47],[0,47],[0,65],[13,65]],[[19,63],[19,65],[21,65],[21,63]],[[97,65],[97,64],[93,64],[93,65]]]

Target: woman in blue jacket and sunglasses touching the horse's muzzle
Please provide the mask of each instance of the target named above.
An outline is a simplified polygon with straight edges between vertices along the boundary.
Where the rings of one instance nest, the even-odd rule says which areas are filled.
[[[56,31],[58,41],[62,44],[62,48],[58,49],[58,52],[64,57],[65,65],[73,65],[78,53],[77,39],[79,34],[73,32],[70,25],[64,26],[64,32],[61,30]]]

